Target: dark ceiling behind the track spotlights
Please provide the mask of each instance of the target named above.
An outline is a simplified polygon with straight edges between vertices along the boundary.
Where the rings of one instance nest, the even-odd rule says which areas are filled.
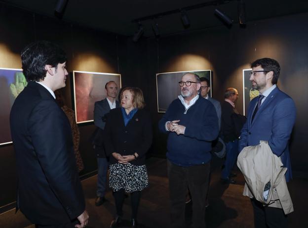
[[[55,17],[54,8],[57,0],[1,1]],[[134,19],[209,1],[212,0],[69,0],[62,20],[132,36],[137,30],[137,25],[131,22]],[[308,0],[244,0],[244,2],[247,21],[308,12]],[[188,29],[182,26],[180,13],[163,16],[156,19],[156,22],[162,35],[219,26],[222,22],[214,15],[215,8],[229,15],[234,20],[233,26],[239,26],[236,0],[187,11],[191,22]],[[152,23],[152,20],[142,22],[145,27],[144,35],[147,37],[153,36]]]

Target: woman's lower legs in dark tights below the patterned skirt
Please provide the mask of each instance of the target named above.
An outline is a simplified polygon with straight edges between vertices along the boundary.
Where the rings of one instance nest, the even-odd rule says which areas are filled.
[[[116,215],[121,216],[121,217],[123,216],[122,207],[123,207],[123,202],[125,198],[124,194],[125,194],[125,191],[123,188],[118,191],[113,192],[115,203],[116,203]],[[130,205],[132,209],[132,214],[131,214],[132,219],[137,219],[140,197],[141,197],[141,191],[134,191],[130,193]]]

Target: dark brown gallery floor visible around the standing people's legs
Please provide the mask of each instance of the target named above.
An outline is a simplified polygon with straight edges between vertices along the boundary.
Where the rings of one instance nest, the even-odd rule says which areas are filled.
[[[220,167],[222,161],[218,158],[212,162],[212,176],[209,193],[209,207],[206,211],[208,228],[253,228],[252,206],[250,200],[242,196],[244,178],[239,171],[236,184],[220,182]],[[140,228],[168,228],[169,226],[169,193],[166,174],[166,160],[150,158],[147,160],[150,187],[142,193],[138,221]],[[86,199],[86,209],[89,212],[88,228],[108,228],[115,214],[115,204],[112,192],[106,194],[107,202],[96,207],[94,205],[96,192],[96,176],[83,180],[82,185]],[[295,212],[289,215],[290,228],[308,228],[305,219],[308,203],[307,178],[295,178],[288,184]],[[123,206],[123,228],[129,226],[130,199],[125,199]],[[187,205],[187,224],[191,222],[191,204]],[[0,214],[0,228],[34,228],[33,225],[18,212],[11,210]]]

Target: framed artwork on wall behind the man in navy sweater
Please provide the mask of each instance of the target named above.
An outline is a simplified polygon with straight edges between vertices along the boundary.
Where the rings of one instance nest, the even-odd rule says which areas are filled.
[[[156,74],[156,90],[157,90],[157,110],[158,112],[166,112],[169,104],[181,94],[179,82],[186,73],[194,73],[200,78],[205,77],[210,81],[212,88],[212,74],[211,70],[197,70],[197,71],[179,71]],[[212,96],[212,89],[210,91]]]

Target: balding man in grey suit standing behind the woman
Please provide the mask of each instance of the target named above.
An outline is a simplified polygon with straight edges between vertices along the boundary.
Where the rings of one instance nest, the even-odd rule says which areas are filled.
[[[94,104],[94,124],[98,127],[94,138],[94,148],[97,154],[97,191],[95,205],[100,206],[105,201],[108,161],[103,145],[103,131],[106,124],[107,114],[111,109],[119,107],[116,100],[118,87],[114,81],[105,85],[107,97]]]

